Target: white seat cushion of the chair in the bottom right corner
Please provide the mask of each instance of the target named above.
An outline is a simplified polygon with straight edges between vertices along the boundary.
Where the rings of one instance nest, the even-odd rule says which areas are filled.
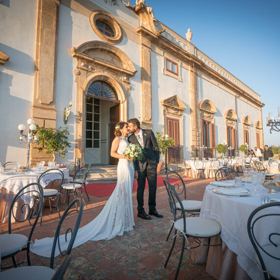
[[[262,247],[265,251],[269,252],[271,255],[273,256],[277,256],[278,258],[280,258],[280,244],[278,244],[278,247],[275,247],[274,245],[265,245]],[[266,266],[266,270],[268,271],[268,273],[273,276],[276,279],[280,279],[280,265],[279,265],[279,260],[270,257],[269,255],[267,255],[265,252],[263,252],[262,250],[259,250],[260,254],[262,256],[262,259],[265,263]],[[258,262],[258,264],[260,265],[260,261],[259,258],[257,256],[257,254],[255,255],[255,259]]]

